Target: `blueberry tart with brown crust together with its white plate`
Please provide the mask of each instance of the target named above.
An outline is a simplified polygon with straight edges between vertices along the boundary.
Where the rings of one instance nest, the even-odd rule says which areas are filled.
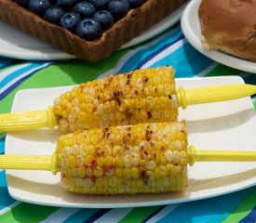
[[[165,31],[185,6],[186,0],[0,0],[0,55],[98,61]]]

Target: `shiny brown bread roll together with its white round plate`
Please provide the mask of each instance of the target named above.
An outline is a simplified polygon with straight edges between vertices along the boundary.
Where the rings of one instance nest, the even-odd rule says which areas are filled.
[[[254,1],[193,0],[182,14],[182,32],[209,59],[256,72],[255,13]]]

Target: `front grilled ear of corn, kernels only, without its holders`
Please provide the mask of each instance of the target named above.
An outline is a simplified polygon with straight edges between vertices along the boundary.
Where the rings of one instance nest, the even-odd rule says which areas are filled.
[[[182,191],[187,185],[184,123],[97,128],[61,136],[61,186],[85,194]]]

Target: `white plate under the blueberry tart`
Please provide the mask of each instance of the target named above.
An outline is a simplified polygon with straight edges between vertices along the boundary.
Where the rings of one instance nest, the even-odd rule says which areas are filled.
[[[164,20],[160,20],[149,30],[122,46],[122,48],[140,44],[168,29],[181,19],[185,6],[186,4],[183,4],[182,7],[169,14]],[[73,55],[49,46],[2,20],[0,20],[0,56],[14,59],[74,59]]]

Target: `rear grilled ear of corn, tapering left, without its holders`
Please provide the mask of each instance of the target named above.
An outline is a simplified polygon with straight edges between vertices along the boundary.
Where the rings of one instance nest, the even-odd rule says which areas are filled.
[[[53,105],[60,129],[175,121],[178,103],[171,67],[111,75],[74,87]]]

